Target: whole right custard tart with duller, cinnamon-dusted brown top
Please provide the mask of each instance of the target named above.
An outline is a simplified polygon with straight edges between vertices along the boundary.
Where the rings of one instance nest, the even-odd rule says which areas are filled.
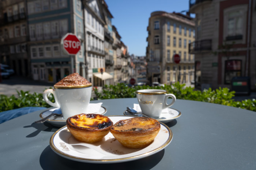
[[[155,119],[134,117],[119,120],[111,127],[110,133],[125,147],[141,148],[154,141],[160,127]]]

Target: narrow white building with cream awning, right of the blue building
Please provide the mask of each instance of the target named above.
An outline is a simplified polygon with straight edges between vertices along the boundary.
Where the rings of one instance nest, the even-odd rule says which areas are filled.
[[[109,74],[105,71],[104,25],[101,1],[83,1],[84,32],[86,34],[87,79],[93,86],[106,84]],[[103,73],[101,74],[101,69]],[[104,74],[104,76],[103,76]]]

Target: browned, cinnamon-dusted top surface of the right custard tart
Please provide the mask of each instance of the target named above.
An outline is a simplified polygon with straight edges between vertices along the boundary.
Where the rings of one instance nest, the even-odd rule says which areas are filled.
[[[119,120],[110,131],[116,133],[148,133],[160,129],[160,123],[151,118],[134,117],[130,119]]]

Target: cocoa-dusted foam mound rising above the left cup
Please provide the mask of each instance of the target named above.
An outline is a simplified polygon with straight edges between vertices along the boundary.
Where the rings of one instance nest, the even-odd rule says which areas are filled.
[[[90,87],[91,85],[92,84],[87,79],[80,76],[78,73],[72,73],[54,84],[54,88],[84,88]]]

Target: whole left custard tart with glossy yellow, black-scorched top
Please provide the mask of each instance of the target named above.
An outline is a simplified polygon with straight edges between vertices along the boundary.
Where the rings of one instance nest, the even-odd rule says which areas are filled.
[[[113,122],[100,114],[79,114],[67,119],[70,133],[81,142],[94,143],[109,133]]]

